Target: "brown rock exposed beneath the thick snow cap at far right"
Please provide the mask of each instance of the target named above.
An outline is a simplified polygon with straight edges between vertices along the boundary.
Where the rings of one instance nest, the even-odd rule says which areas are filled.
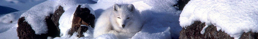
[[[210,25],[205,29],[204,34],[201,34],[201,30],[205,27],[205,23],[194,22],[192,25],[182,28],[179,39],[234,39],[227,33],[217,31],[214,25]],[[240,39],[257,39],[258,33],[247,32],[243,33]]]

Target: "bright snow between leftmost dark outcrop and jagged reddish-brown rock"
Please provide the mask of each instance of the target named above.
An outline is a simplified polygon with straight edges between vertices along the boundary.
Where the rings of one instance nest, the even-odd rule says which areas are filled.
[[[65,12],[61,15],[60,19],[59,19],[59,29],[60,29],[60,36],[61,37],[65,37],[68,35],[68,32],[66,32],[67,30],[70,30],[71,26],[72,26],[72,19],[74,17],[74,12],[76,10],[76,8],[78,7],[78,5],[82,5],[81,8],[88,8],[89,10],[91,10],[90,13],[92,13],[93,15],[95,14],[94,10],[87,4],[85,3],[77,3],[80,2],[80,0],[60,0],[58,1],[58,5],[61,5]],[[86,2],[87,3],[87,2]]]

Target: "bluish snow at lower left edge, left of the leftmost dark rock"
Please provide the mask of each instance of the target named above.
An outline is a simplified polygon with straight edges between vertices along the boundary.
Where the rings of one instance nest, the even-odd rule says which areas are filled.
[[[17,27],[20,15],[25,11],[18,11],[0,16],[0,38],[2,39],[18,39]],[[12,21],[12,23],[10,23]]]

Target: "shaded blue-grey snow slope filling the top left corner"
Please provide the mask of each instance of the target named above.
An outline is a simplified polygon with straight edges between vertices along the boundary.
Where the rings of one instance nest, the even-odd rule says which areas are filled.
[[[0,6],[10,7],[19,11],[29,10],[31,7],[47,0],[0,0]]]

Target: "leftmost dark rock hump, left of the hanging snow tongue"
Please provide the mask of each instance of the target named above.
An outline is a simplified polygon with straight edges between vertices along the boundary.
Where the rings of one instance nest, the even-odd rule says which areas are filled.
[[[21,17],[18,20],[17,35],[19,39],[34,39],[35,31],[24,18]]]

